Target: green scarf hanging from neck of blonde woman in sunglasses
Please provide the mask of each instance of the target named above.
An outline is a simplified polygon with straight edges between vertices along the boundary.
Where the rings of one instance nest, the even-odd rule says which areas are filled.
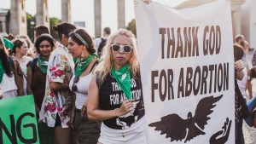
[[[124,91],[128,100],[131,100],[131,72],[130,65],[127,64],[116,71],[114,68],[111,69],[112,77],[117,81],[120,88]]]

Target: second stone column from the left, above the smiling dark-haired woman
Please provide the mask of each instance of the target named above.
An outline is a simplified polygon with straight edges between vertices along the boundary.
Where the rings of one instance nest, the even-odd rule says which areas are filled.
[[[36,26],[38,25],[49,28],[48,0],[37,0]]]

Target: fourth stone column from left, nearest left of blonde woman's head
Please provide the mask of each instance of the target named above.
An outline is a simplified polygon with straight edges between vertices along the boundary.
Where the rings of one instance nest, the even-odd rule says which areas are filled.
[[[101,0],[94,1],[94,28],[95,36],[102,36],[102,2]]]

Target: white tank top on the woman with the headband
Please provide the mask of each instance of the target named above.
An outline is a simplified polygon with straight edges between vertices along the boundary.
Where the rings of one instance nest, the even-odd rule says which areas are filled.
[[[76,94],[75,105],[77,109],[82,109],[84,101],[88,99],[88,89],[90,84],[90,79],[93,77],[90,72],[88,75],[79,78],[79,82],[76,83],[78,90],[74,93]],[[74,74],[69,82],[69,89],[72,89],[73,86],[73,78],[75,78]]]

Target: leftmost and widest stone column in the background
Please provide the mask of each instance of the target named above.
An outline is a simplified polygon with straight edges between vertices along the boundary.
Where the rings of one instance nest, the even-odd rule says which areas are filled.
[[[11,0],[9,32],[27,34],[25,0]]]

